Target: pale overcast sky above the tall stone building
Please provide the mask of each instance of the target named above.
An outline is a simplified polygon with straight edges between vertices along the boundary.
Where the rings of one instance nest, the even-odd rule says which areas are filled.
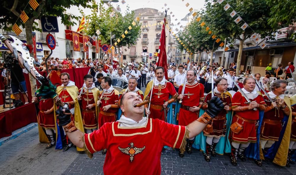
[[[160,10],[161,12],[163,12],[165,9],[170,8],[168,10],[168,14],[170,14],[170,12],[173,12],[172,14],[170,14],[171,22],[173,22],[174,24],[181,22],[180,25],[183,26],[186,25],[186,22],[182,22],[181,19],[189,13],[189,9],[192,7],[194,10],[199,10],[205,4],[204,0],[125,0],[125,4],[122,4],[121,1],[122,0],[119,0],[118,3],[112,3],[114,7],[117,7],[117,5],[119,5],[119,7],[121,8],[121,12],[125,12],[127,6],[129,6],[131,10],[139,8],[154,8]],[[188,7],[186,7],[186,3],[189,3]],[[165,6],[165,4],[167,5]],[[162,7],[164,8],[162,9]],[[173,14],[175,15],[175,17],[172,17]],[[178,20],[175,21],[175,19]]]

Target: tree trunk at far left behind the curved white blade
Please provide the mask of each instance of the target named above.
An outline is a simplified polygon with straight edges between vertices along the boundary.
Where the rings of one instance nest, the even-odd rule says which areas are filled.
[[[27,39],[28,45],[33,44],[32,30],[33,30],[33,20],[29,19],[25,23],[26,39]],[[34,57],[33,55],[34,55],[33,52],[30,53],[31,57]],[[33,76],[30,73],[28,73],[28,74],[30,77],[31,92],[32,92],[32,95],[35,95],[35,92],[37,90],[36,80],[33,78]]]

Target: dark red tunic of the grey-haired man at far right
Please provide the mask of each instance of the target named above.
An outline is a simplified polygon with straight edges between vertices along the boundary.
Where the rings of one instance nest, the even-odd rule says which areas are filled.
[[[267,106],[271,106],[271,102],[268,101],[266,96],[264,96],[264,100]],[[279,135],[282,128],[281,122],[278,122],[277,124],[268,124],[264,120],[268,119],[270,121],[281,121],[284,119],[284,111],[281,109],[281,107],[278,109],[274,108],[264,113],[260,139],[279,141]]]

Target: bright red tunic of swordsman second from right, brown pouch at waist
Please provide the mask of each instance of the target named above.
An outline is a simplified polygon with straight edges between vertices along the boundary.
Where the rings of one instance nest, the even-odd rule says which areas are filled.
[[[251,99],[250,99],[251,100]],[[264,102],[264,99],[261,95],[258,95],[255,99],[251,101],[256,101],[260,105],[266,105]],[[237,92],[233,95],[231,106],[232,108],[236,106],[248,106],[247,100],[242,96],[240,92]],[[250,120],[258,120],[259,119],[259,110],[254,111],[253,109],[246,110],[246,111],[235,111],[234,115],[232,117],[232,124],[236,121],[238,121],[239,124],[242,124],[242,120],[238,119],[235,114],[241,116],[244,119],[250,119]],[[237,120],[238,119],[238,120]],[[246,142],[256,142],[256,128],[255,128],[255,122],[249,123],[244,122],[243,129],[239,133],[231,132],[232,141],[237,143],[246,143]]]

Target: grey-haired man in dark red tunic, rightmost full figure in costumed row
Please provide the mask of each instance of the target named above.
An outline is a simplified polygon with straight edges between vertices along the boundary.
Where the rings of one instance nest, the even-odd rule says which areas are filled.
[[[284,94],[287,86],[287,82],[284,80],[276,80],[271,85],[271,91],[268,95],[274,102],[268,100],[264,96],[265,103],[267,105],[264,111],[264,118],[261,126],[260,145],[263,149],[263,154],[267,153],[267,150],[276,142],[279,141],[279,136],[282,130],[282,120],[284,115],[289,116],[290,110],[287,104],[284,102]],[[287,166],[289,162],[287,161]]]

